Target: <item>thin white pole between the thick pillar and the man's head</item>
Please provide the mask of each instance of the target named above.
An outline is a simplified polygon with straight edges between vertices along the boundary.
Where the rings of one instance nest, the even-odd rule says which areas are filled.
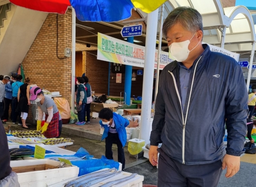
[[[160,17],[160,27],[159,27],[159,44],[158,44],[158,54],[157,54],[157,78],[155,79],[155,100],[157,98],[158,92],[158,82],[159,82],[159,69],[160,69],[160,54],[162,46],[162,33],[163,33],[163,22],[164,22],[164,4],[161,6],[161,17]]]

